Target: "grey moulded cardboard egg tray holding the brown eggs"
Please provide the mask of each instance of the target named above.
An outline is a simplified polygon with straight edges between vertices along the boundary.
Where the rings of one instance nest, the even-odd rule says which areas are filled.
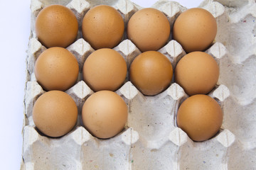
[[[193,142],[176,125],[178,106],[188,96],[174,81],[168,89],[156,96],[144,96],[129,81],[116,91],[129,108],[127,125],[122,132],[108,140],[90,135],[81,123],[85,100],[94,92],[82,81],[82,65],[94,50],[78,38],[67,47],[80,66],[77,83],[65,91],[78,106],[78,122],[67,135],[50,138],[38,132],[32,109],[36,99],[45,93],[36,82],[34,62],[46,50],[36,38],[34,23],[44,6],[68,6],[81,21],[85,13],[97,4],[117,8],[125,26],[140,6],[129,0],[31,0],[31,36],[27,56],[27,81],[24,99],[23,155],[21,169],[256,169],[256,4],[252,0],[203,1],[216,18],[218,33],[213,45],[206,50],[220,67],[220,78],[208,94],[223,109],[223,125],[217,135],[204,142]],[[161,0],[152,6],[162,11],[171,24],[186,8],[174,1]],[[80,27],[81,29],[81,27]],[[122,42],[114,47],[127,62],[141,52],[124,34]],[[169,58],[175,68],[186,55],[175,40],[159,52]]]

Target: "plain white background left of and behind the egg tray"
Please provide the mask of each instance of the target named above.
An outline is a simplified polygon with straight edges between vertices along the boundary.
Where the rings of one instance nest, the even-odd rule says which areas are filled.
[[[156,0],[132,0],[149,7]],[[202,0],[176,0],[187,8]],[[26,50],[30,34],[30,0],[0,0],[0,160],[1,169],[20,169]]]

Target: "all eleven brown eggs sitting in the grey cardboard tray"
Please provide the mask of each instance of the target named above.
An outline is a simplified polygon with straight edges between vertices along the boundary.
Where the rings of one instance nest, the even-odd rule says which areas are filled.
[[[195,26],[188,27],[188,23]],[[154,8],[137,11],[128,22],[127,37],[142,51],[129,68],[129,79],[144,95],[159,94],[171,84],[171,62],[156,52],[166,44],[170,30],[164,13]],[[210,55],[199,52],[213,42],[216,30],[213,16],[201,8],[181,13],[174,23],[174,39],[190,52],[178,62],[175,80],[189,95],[207,94],[218,81],[218,64]],[[48,92],[36,101],[33,120],[38,130],[50,137],[65,135],[77,121],[78,108],[63,92],[73,86],[78,77],[78,62],[64,48],[75,41],[77,33],[78,21],[65,6],[43,8],[36,18],[36,35],[48,49],[36,60],[35,75]],[[122,86],[127,75],[124,58],[111,49],[122,40],[123,34],[122,16],[111,6],[95,6],[82,20],[83,38],[95,49],[85,60],[83,79],[97,91],[82,107],[82,123],[92,135],[100,138],[117,135],[127,122],[127,105],[112,92]],[[222,123],[220,106],[206,95],[188,99],[178,110],[178,126],[193,140],[207,140],[218,132]],[[193,115],[202,115],[206,111],[204,116],[191,123],[195,119]]]

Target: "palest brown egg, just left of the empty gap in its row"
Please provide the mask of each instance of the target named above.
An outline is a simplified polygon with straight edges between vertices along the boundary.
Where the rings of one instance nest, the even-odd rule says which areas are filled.
[[[112,91],[92,94],[82,106],[82,123],[95,137],[110,138],[124,129],[128,108]]]

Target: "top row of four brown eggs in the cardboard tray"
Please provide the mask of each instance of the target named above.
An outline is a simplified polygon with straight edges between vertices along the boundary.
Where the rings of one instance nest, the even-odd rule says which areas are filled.
[[[78,35],[78,21],[65,6],[43,8],[36,18],[36,35],[46,47],[68,47]],[[159,50],[171,32],[164,13],[155,8],[137,11],[127,23],[127,38],[142,52]],[[177,40],[186,52],[203,51],[217,33],[215,18],[203,8],[191,8],[181,13],[173,28]],[[113,48],[124,35],[121,14],[111,6],[95,6],[82,20],[83,38],[95,49]]]

